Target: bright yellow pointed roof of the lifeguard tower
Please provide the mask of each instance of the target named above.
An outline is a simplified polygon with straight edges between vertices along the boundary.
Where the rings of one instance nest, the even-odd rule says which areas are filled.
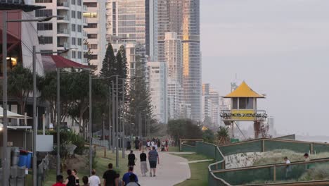
[[[241,85],[236,88],[230,94],[227,94],[224,98],[231,98],[231,97],[252,97],[252,98],[265,98],[263,95],[254,92],[248,85],[243,81]]]

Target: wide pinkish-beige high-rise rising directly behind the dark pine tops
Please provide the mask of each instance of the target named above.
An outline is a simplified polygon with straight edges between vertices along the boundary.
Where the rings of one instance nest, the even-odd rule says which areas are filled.
[[[106,20],[109,37],[134,43],[138,55],[157,61],[157,0],[108,0]]]

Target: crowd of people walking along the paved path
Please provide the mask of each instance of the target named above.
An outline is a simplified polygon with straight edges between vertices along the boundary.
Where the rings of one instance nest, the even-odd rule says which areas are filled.
[[[139,159],[141,161],[141,175],[143,177],[148,173],[148,165],[150,167],[150,177],[155,177],[157,164],[160,164],[160,157],[157,153],[161,147],[161,151],[168,151],[169,140],[161,141],[157,138],[152,140],[136,140],[134,141],[136,150],[141,150]],[[146,154],[147,153],[147,154]],[[148,159],[148,163],[147,163]],[[138,186],[138,177],[134,173],[136,166],[136,156],[134,151],[130,151],[128,155],[128,172],[120,179],[120,174],[113,170],[112,163],[108,164],[108,171],[103,174],[103,185],[104,186]],[[82,185],[80,185],[82,184]],[[101,179],[96,175],[96,170],[91,171],[91,176],[88,178],[84,176],[82,182],[79,182],[77,170],[67,170],[67,178],[64,179],[63,175],[57,175],[56,184],[53,186],[101,186]]]

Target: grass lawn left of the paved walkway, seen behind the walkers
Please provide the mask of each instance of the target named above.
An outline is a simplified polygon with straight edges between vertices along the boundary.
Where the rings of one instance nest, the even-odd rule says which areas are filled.
[[[125,159],[122,159],[122,151],[119,153],[119,168],[115,168],[115,171],[117,173],[120,173],[120,177],[124,173],[127,172],[127,164],[128,159],[127,156],[125,156]],[[104,151],[98,150],[96,153],[96,173],[99,176],[99,178],[103,177],[103,173],[108,170],[108,163],[112,163],[113,166],[115,166],[115,154],[112,154],[112,151],[106,152],[106,157],[104,157]],[[79,175],[80,184],[82,182],[82,177],[84,175],[89,175],[89,170],[77,170]],[[66,173],[63,173],[64,178],[66,177]],[[50,170],[47,178],[44,182],[45,186],[53,185],[56,182],[56,170]],[[103,179],[101,179],[101,182],[103,182]]]

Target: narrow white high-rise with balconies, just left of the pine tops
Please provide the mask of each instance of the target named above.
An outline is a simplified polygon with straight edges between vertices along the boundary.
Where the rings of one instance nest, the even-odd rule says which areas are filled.
[[[84,6],[87,7],[83,15],[87,21],[84,31],[87,33],[86,44],[89,50],[85,57],[89,59],[91,65],[97,66],[96,72],[99,72],[102,69],[107,44],[105,0],[84,0]]]

